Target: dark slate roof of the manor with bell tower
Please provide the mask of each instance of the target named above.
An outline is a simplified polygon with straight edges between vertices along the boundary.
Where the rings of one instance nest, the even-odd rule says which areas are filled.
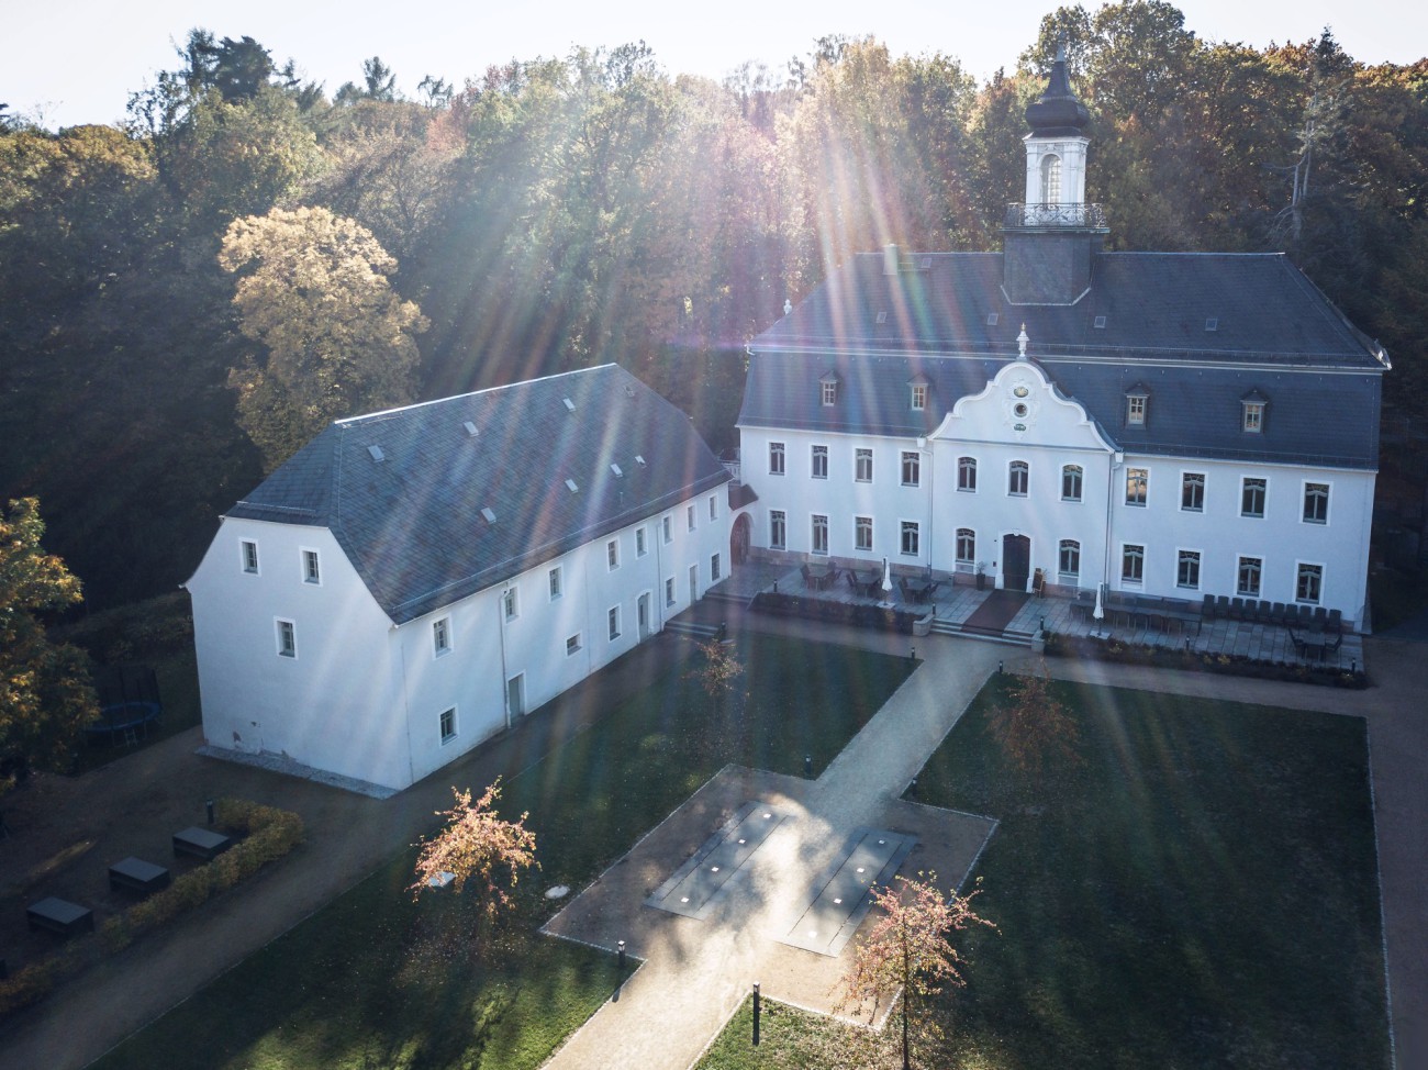
[[[1017,359],[1025,324],[1028,356],[1121,449],[1377,467],[1387,356],[1284,256],[1098,253],[1070,307],[1008,303],[1001,253],[914,254],[917,270],[894,276],[883,263],[855,257],[750,343],[741,426],[927,434]],[[838,404],[823,406],[830,373]],[[930,381],[921,413],[908,406],[917,374]],[[1150,416],[1127,427],[1137,386]],[[1259,434],[1241,430],[1252,390],[1268,399]]]

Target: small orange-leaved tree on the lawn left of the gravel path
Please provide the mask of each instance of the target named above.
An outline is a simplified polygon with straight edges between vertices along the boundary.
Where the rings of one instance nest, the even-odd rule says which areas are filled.
[[[501,797],[501,780],[486,789],[486,793],[471,801],[470,789],[451,789],[456,806],[438,810],[446,819],[446,827],[436,839],[421,840],[421,854],[417,857],[417,879],[413,881],[413,899],[423,891],[450,886],[463,891],[467,881],[473,883],[478,900],[477,939],[473,950],[480,953],[483,926],[491,926],[500,913],[510,906],[510,889],[520,881],[521,870],[536,861],[536,833],[526,827],[528,813],[507,821],[496,811]]]

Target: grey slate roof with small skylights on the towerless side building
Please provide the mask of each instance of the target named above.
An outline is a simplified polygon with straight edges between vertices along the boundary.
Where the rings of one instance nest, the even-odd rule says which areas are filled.
[[[605,364],[338,420],[228,516],[330,529],[401,624],[728,480],[684,413]]]

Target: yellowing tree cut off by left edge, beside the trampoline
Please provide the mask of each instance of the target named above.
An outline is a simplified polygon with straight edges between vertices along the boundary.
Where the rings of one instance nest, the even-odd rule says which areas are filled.
[[[64,561],[44,553],[33,497],[0,514],[0,759],[66,769],[97,706],[89,657],[51,643],[37,614],[83,601]],[[13,783],[0,777],[0,794]]]

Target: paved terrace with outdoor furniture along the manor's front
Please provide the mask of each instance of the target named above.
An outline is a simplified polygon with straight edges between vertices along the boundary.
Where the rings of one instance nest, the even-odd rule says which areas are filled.
[[[1164,599],[1141,599],[1142,606],[1138,609],[1125,601],[1108,603],[1102,607],[1104,616],[1097,620],[1092,610],[1094,591],[1080,591],[1077,597],[1067,597],[1060,590],[1020,594],[995,589],[991,577],[987,587],[978,590],[970,576],[958,574],[954,580],[942,571],[928,573],[898,566],[892,567],[892,590],[883,590],[880,583],[870,596],[848,583],[845,566],[823,566],[825,570],[831,567],[838,570],[831,581],[810,583],[798,563],[751,560],[735,567],[711,594],[748,603],[761,591],[777,591],[844,604],[891,606],[922,616],[931,611],[932,631],[1021,646],[1030,646],[1037,631],[1045,629],[1072,639],[1098,636],[1131,646],[1158,646],[1215,657],[1248,657],[1344,670],[1362,669],[1365,664],[1364,639],[1348,626],[1344,626],[1341,634],[1332,630],[1325,634],[1298,623],[1287,627],[1261,620],[1235,620],[1225,614],[1207,617],[1201,600]],[[867,579],[867,566],[858,571]],[[900,577],[918,583],[930,580],[934,586],[927,599],[910,597],[898,584]],[[1295,637],[1305,644],[1295,644]],[[1335,640],[1339,640],[1337,647]]]

